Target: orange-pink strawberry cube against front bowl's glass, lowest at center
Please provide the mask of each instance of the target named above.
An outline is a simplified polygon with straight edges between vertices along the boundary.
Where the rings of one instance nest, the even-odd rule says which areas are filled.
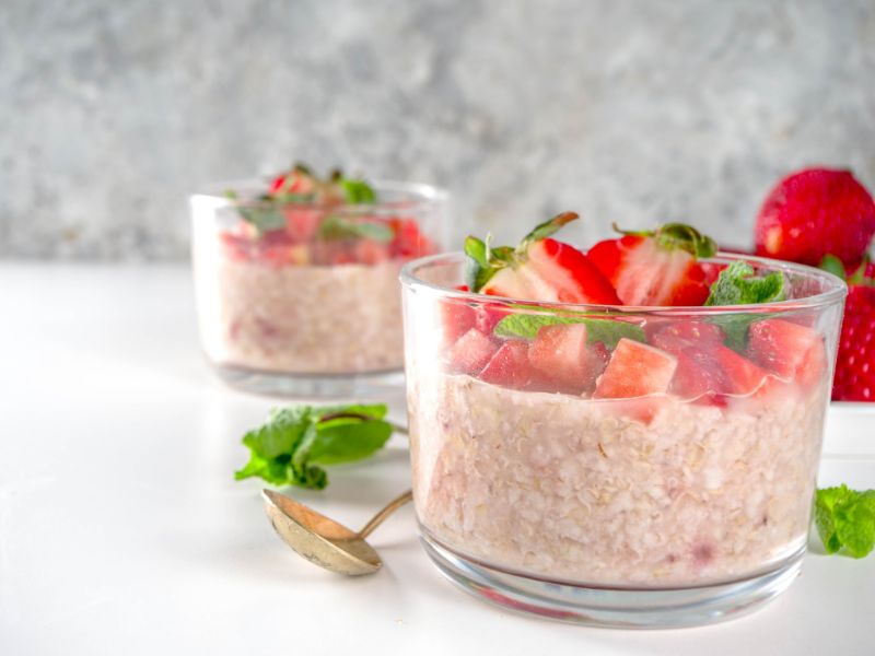
[[[670,353],[622,338],[598,378],[593,398],[625,399],[664,393],[676,368],[677,359]]]

